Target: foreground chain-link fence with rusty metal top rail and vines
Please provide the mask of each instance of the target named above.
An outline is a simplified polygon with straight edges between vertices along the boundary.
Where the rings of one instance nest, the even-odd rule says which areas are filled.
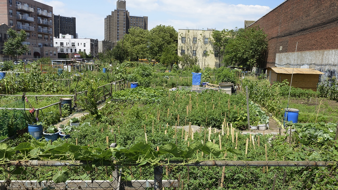
[[[1,189],[338,189],[336,162],[203,161],[117,166],[86,161],[17,161],[1,166]]]

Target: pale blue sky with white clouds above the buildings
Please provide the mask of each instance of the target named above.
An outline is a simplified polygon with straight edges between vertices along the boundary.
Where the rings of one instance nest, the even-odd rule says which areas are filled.
[[[36,0],[53,7],[55,15],[76,18],[79,38],[104,40],[104,18],[117,0]],[[284,0],[126,0],[130,15],[148,16],[148,30],[157,25],[178,29],[243,28]]]

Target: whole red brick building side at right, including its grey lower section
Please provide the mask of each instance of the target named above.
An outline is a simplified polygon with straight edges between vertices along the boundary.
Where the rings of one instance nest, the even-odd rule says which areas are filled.
[[[294,65],[337,77],[338,1],[286,0],[252,26],[268,34],[267,67]]]

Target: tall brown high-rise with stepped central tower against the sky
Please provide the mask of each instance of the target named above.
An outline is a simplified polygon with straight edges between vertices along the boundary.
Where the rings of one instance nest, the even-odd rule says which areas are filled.
[[[131,27],[148,29],[148,17],[129,15],[126,9],[126,1],[118,0],[116,9],[111,15],[104,18],[104,41],[116,42],[128,33]]]

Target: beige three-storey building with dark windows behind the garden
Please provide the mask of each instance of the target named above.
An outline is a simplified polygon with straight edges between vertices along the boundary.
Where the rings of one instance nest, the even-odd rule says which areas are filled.
[[[219,61],[222,58],[219,57],[219,52],[214,49],[212,32],[213,29],[178,29],[178,55],[187,54],[190,58],[196,57],[200,68],[219,68]]]

